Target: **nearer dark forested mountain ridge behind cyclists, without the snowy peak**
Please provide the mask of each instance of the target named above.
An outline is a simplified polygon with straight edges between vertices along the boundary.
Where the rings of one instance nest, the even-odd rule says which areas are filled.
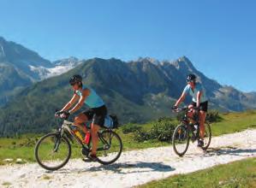
[[[47,132],[55,125],[53,114],[61,109],[73,91],[68,79],[79,73],[104,98],[109,112],[122,123],[146,122],[169,116],[170,107],[186,85],[188,73],[195,73],[210,98],[210,109],[241,111],[255,109],[253,93],[243,93],[208,79],[187,57],[175,62],[134,62],[94,58],[81,62],[67,73],[45,79],[20,91],[15,100],[0,109],[0,134]],[[189,98],[188,98],[189,101]]]

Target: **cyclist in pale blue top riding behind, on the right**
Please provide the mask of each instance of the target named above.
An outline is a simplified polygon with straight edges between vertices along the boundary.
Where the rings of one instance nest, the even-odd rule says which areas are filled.
[[[194,74],[189,74],[187,77],[188,85],[184,88],[182,96],[177,100],[176,104],[173,106],[173,109],[176,109],[177,106],[184,101],[185,97],[189,94],[192,96],[192,103],[188,106],[188,109],[197,107],[199,114],[199,136],[198,146],[204,146],[204,135],[205,135],[205,117],[208,109],[208,101],[205,94],[205,89],[203,86],[196,82],[196,76]],[[195,111],[193,110],[193,113]],[[193,114],[190,114],[193,115]]]

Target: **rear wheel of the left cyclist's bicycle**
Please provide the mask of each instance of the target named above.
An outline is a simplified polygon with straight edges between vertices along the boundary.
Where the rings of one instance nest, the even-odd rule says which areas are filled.
[[[116,162],[122,153],[122,140],[111,130],[104,130],[98,133],[98,162],[104,165]]]

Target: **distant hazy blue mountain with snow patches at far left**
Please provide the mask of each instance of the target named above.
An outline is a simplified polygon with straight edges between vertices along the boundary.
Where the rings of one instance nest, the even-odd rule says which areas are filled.
[[[79,63],[75,57],[50,62],[33,50],[0,37],[0,107],[24,87],[65,73]]]

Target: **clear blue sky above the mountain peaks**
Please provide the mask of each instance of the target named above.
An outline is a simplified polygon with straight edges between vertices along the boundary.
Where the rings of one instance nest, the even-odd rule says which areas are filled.
[[[256,1],[0,0],[0,36],[51,61],[188,56],[223,85],[256,91]]]

